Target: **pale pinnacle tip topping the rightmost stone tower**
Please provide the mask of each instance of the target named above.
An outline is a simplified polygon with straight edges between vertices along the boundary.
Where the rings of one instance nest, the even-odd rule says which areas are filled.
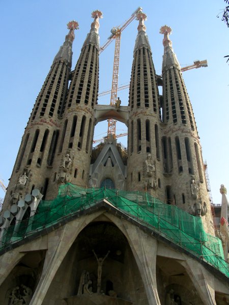
[[[164,69],[169,69],[171,67],[176,67],[181,69],[180,64],[178,62],[177,56],[174,53],[172,42],[169,39],[169,35],[171,34],[171,27],[168,25],[163,25],[160,28],[160,34],[164,35],[163,46],[164,46],[164,55],[163,55],[163,63],[162,63],[162,71]]]

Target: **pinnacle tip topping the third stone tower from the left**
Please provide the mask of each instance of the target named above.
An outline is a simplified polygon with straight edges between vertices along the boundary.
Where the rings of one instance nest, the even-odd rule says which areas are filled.
[[[147,20],[147,15],[143,13],[142,11],[139,11],[136,15],[136,20],[139,21],[138,27],[137,27],[137,38],[135,41],[135,47],[134,47],[134,53],[136,50],[145,47],[151,51],[150,43],[148,36],[146,35],[146,25],[144,24],[144,21]]]

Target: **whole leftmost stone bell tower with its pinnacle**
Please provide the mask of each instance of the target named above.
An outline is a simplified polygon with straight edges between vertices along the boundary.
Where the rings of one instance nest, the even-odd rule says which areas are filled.
[[[78,28],[68,23],[69,33],[54,57],[50,71],[35,102],[18,151],[4,206],[17,202],[24,195],[39,189],[46,197],[52,180],[52,163],[60,133],[60,114],[68,88],[72,65],[72,43]]]

